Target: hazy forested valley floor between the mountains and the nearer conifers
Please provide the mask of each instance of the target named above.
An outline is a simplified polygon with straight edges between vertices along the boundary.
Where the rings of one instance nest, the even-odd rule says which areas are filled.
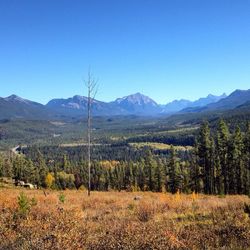
[[[193,146],[198,128],[207,120],[213,132],[223,119],[232,133],[237,126],[244,131],[250,120],[249,106],[226,111],[179,113],[172,116],[93,117],[94,143],[113,144],[130,142],[159,142]],[[86,119],[63,120],[0,120],[0,151],[16,145],[54,145],[83,143],[86,138]]]

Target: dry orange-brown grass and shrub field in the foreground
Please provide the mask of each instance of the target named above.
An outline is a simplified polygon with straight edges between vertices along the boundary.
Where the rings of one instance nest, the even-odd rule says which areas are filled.
[[[247,196],[46,193],[0,189],[0,249],[250,249]]]

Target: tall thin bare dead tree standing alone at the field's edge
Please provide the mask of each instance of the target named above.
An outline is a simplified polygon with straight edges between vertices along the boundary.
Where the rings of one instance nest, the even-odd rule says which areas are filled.
[[[98,80],[92,75],[91,71],[88,71],[88,77],[84,80],[84,83],[88,90],[88,196],[90,196],[91,190],[91,118],[92,118],[92,104],[95,99],[98,90]]]

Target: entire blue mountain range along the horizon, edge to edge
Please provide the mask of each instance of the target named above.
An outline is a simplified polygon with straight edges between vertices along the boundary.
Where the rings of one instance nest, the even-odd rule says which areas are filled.
[[[75,95],[68,99],[52,99],[46,105],[23,99],[16,95],[0,97],[0,119],[61,119],[80,117],[87,113],[88,99]],[[150,97],[136,93],[118,98],[112,102],[93,100],[94,116],[138,115],[156,116],[175,113],[197,113],[213,110],[230,110],[237,107],[249,107],[250,89],[235,90],[229,96],[222,94],[196,101],[174,100],[166,105],[159,105]],[[245,105],[245,106],[244,106]]]

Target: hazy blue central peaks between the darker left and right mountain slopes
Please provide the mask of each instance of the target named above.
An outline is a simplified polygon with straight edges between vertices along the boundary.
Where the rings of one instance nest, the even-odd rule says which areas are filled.
[[[122,98],[118,98],[113,102],[101,102],[94,100],[94,115],[159,115],[172,114],[180,110],[190,107],[203,107],[207,104],[216,102],[225,97],[208,95],[194,102],[188,100],[175,100],[167,105],[158,105],[153,99],[141,93],[136,93]],[[63,114],[83,114],[87,110],[87,97],[76,95],[68,99],[53,99],[48,102],[47,106]]]

